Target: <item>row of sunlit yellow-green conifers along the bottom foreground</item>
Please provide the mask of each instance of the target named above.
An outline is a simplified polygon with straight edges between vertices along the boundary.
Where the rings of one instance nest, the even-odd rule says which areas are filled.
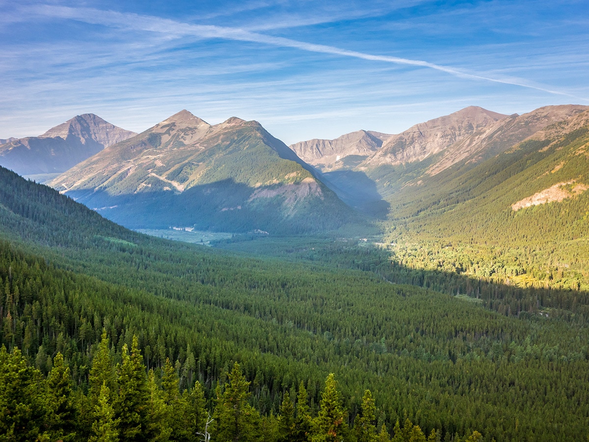
[[[352,426],[333,373],[327,376],[319,410],[312,414],[303,382],[296,398],[284,392],[277,414],[261,414],[251,404],[250,382],[235,362],[207,401],[196,381],[181,390],[181,374],[166,359],[161,370],[147,370],[133,337],[115,364],[106,332],[95,349],[85,388],[76,388],[70,368],[58,352],[44,377],[30,367],[18,348],[0,349],[0,440],[64,442],[435,442],[439,431],[423,433],[409,419],[396,421],[392,438],[386,425],[376,428],[370,390],[362,397]],[[211,411],[212,409],[212,411]],[[480,442],[473,431],[454,442]]]

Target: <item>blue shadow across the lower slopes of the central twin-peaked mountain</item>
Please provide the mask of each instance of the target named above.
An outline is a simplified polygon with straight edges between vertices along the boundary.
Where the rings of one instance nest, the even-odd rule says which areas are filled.
[[[107,192],[74,190],[73,199],[129,229],[194,227],[216,232],[299,234],[325,232],[360,219],[344,204],[322,206],[321,195],[301,198],[301,189],[282,184],[262,192],[233,179],[198,184],[182,193],[144,192],[112,196]],[[265,192],[265,193],[264,193]]]

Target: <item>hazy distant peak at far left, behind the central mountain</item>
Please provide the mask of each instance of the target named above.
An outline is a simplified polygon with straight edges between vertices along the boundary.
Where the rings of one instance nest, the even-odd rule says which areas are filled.
[[[94,114],[82,114],[41,136],[2,144],[0,165],[27,176],[61,173],[105,147],[134,135]]]

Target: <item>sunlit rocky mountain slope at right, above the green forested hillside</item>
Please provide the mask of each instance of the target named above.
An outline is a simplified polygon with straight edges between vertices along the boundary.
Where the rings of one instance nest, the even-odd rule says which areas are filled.
[[[499,118],[499,114],[493,113],[493,119],[487,116],[488,111],[484,109],[466,108],[432,120],[437,123],[432,124],[430,132],[424,134],[429,134],[428,137],[420,137],[420,125],[415,126],[415,130],[408,130],[407,136],[393,144],[396,146],[394,154],[390,147],[385,151],[386,146],[383,146],[383,149],[358,169],[362,168],[375,182],[378,192],[391,202],[394,211],[399,196],[412,193],[413,187],[431,186],[436,191],[439,186],[438,174],[443,177],[454,174],[452,176],[458,177],[482,161],[511,149],[514,144],[524,141],[550,124],[574,118],[586,110],[587,106],[580,105],[546,106],[521,116],[514,114]],[[480,120],[479,126],[474,126],[470,121],[474,117]],[[431,122],[423,125],[427,126],[428,123]],[[446,127],[445,124],[449,126]],[[455,128],[457,125],[462,128],[458,131],[460,136]],[[412,144],[405,146],[406,141],[403,140],[410,135]],[[390,144],[392,140],[389,139],[387,143]]]

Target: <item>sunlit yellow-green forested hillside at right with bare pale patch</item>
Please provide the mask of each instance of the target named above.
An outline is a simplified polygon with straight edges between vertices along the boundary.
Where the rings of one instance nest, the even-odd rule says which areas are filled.
[[[520,287],[589,291],[588,128],[585,111],[476,166],[400,190],[385,236],[395,260]],[[587,295],[572,298],[568,308],[587,303]]]

